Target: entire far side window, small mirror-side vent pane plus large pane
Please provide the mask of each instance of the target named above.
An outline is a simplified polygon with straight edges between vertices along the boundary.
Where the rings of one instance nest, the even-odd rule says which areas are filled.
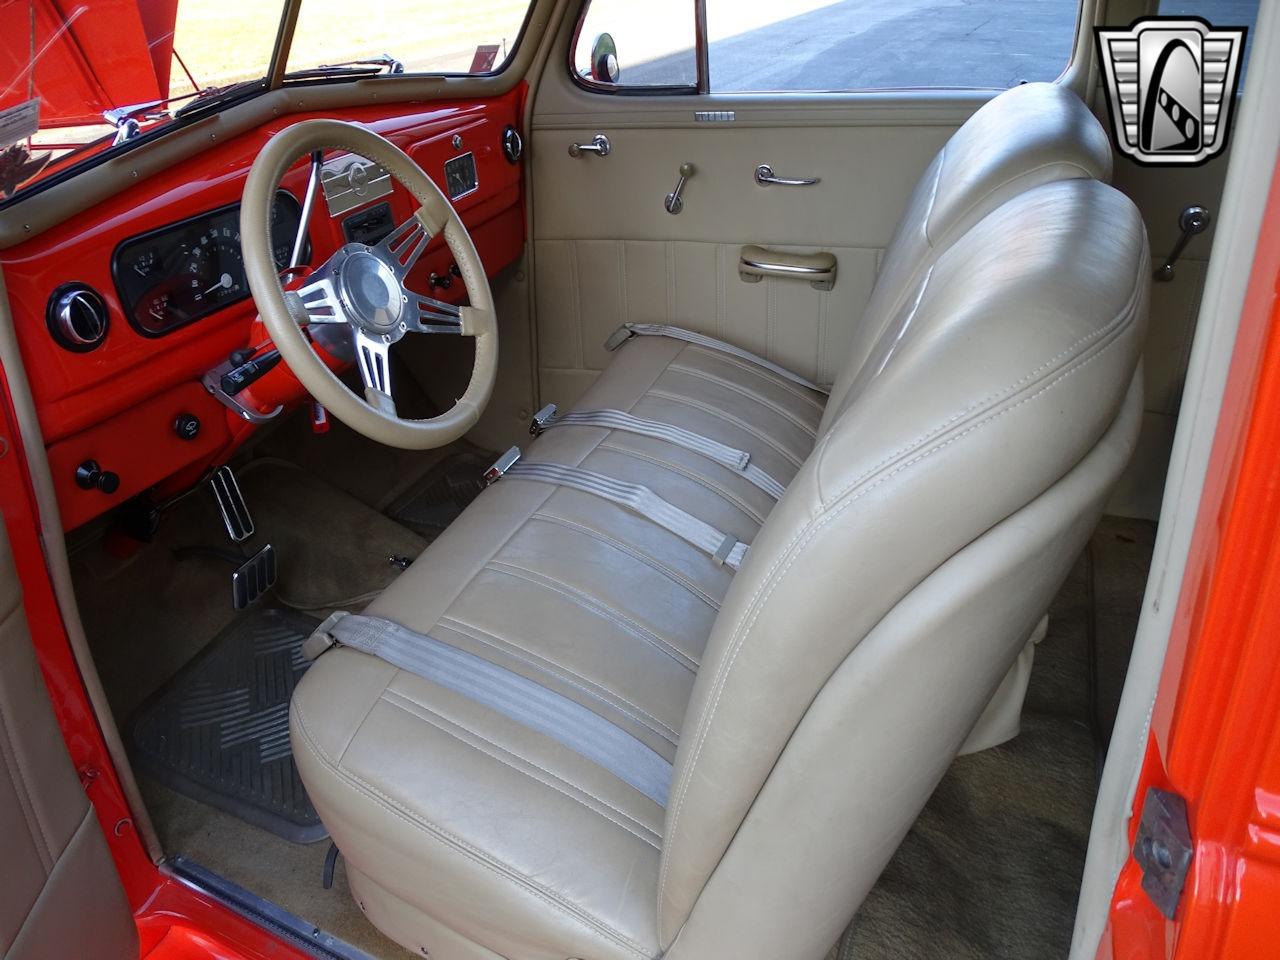
[[[1079,0],[705,0],[699,24],[698,6],[589,0],[575,73],[586,86],[622,93],[653,86],[712,93],[1004,90],[1066,69],[1080,10]],[[699,27],[707,38],[701,77]],[[593,49],[603,51],[599,63]],[[611,51],[612,74],[600,69]]]

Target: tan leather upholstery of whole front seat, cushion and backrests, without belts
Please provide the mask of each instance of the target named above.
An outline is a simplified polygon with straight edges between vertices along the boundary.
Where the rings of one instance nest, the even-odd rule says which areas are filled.
[[[1048,169],[1041,140],[1011,141]],[[736,575],[620,507],[507,479],[367,611],[672,759],[666,806],[381,660],[316,662],[294,754],[375,923],[445,960],[817,957],[836,940],[1135,436],[1146,233],[1119,193],[1056,169],[1018,196],[950,198],[966,229],[886,265],[902,293],[827,424],[820,394],[659,338],[620,348],[579,404],[750,451],[788,485],[777,504],[649,438],[566,426],[532,444],[751,541]]]

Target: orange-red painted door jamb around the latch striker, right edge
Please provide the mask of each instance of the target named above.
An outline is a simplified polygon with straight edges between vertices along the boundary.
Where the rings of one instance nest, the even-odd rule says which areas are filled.
[[[1130,858],[1100,957],[1280,955],[1280,166],[1260,236],[1170,635],[1148,786],[1188,801],[1196,846],[1166,920]],[[1130,844],[1137,818],[1130,824]]]

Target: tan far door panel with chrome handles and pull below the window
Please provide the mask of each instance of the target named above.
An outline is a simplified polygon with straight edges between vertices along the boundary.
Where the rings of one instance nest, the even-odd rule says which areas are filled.
[[[603,96],[579,90],[553,55],[530,151],[543,401],[573,402],[622,323],[687,326],[829,383],[911,189],[989,96],[796,95],[785,109],[762,97]],[[709,106],[735,119],[695,119]],[[570,155],[598,133],[608,156]],[[696,172],[672,215],[663,201],[686,163]],[[762,187],[760,164],[819,183]],[[833,289],[744,282],[751,243],[835,253]]]

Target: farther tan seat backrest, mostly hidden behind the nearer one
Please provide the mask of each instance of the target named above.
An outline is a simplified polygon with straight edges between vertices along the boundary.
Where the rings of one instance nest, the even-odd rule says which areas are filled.
[[[982,106],[943,145],[916,183],[854,332],[819,433],[847,401],[886,325],[915,280],[947,247],[1006,200],[1041,183],[1111,179],[1111,143],[1066,87],[1024,83]]]

